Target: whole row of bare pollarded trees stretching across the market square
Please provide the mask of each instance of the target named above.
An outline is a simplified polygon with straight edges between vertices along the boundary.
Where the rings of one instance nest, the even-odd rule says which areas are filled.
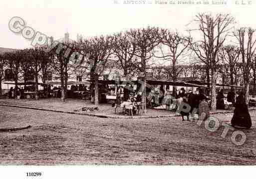
[[[68,78],[74,74],[82,75],[93,82],[95,94],[92,96],[98,104],[98,80],[107,68],[117,67],[126,77],[146,74],[151,69],[159,79],[163,76],[173,81],[182,76],[207,79],[213,110],[216,110],[218,76],[231,85],[241,80],[248,99],[251,79],[254,79],[256,91],[255,30],[236,29],[235,19],[229,14],[200,13],[192,24],[196,28],[188,27],[187,36],[169,29],[147,27],[72,44],[53,43],[47,51],[37,47],[6,53],[0,56],[0,80],[4,66],[12,69],[15,84],[18,75],[28,69],[34,72],[36,83],[38,76],[43,77],[51,71],[61,81],[64,100]],[[79,53],[72,56],[73,52]],[[81,65],[77,65],[77,61]]]

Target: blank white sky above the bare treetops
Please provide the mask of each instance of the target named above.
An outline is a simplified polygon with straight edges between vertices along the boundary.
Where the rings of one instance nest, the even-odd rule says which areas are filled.
[[[256,28],[255,0],[252,5],[236,5],[235,0],[226,0],[227,5],[213,5],[212,0],[209,5],[160,5],[155,0],[151,0],[152,4],[148,4],[149,0],[147,4],[123,4],[124,0],[118,1],[119,4],[114,4],[114,0],[4,0],[0,5],[0,47],[30,46],[30,41],[8,29],[8,21],[13,16],[21,17],[26,25],[54,39],[62,38],[68,31],[74,40],[77,33],[86,37],[148,25],[184,32],[185,25],[198,12],[205,11],[231,13],[239,24]]]

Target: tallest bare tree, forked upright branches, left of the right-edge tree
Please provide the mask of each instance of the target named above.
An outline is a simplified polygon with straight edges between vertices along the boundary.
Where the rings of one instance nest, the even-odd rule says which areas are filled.
[[[195,23],[198,24],[196,30],[202,34],[202,39],[197,42],[191,42],[191,49],[196,56],[205,63],[211,70],[211,107],[216,111],[216,77],[217,65],[220,61],[218,53],[224,41],[233,28],[234,17],[229,14],[211,14],[199,13],[196,15]]]

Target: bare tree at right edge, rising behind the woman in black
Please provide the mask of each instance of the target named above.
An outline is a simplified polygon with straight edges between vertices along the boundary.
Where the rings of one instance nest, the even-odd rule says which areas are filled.
[[[234,36],[240,45],[242,64],[243,64],[243,79],[244,90],[246,94],[246,102],[249,102],[249,86],[250,73],[252,69],[253,56],[256,50],[256,30],[251,27],[242,27],[234,32]]]

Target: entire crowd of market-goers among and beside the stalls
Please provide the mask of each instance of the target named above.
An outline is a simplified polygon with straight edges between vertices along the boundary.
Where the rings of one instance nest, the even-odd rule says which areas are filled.
[[[33,91],[34,86],[25,86],[16,89],[17,96],[20,99],[25,98],[24,91]],[[48,86],[48,88],[44,88],[48,92],[48,96],[52,97],[61,97],[61,88]],[[124,91],[126,88],[119,87],[117,89],[117,94],[115,93],[115,89],[112,87],[108,88],[100,88],[100,90],[104,89],[104,95],[113,95],[117,96],[117,100],[119,103],[121,101],[130,102],[134,104],[134,106],[140,104],[142,102],[142,92],[140,90],[133,90],[130,94],[127,93],[127,97],[124,95]],[[90,92],[89,89],[86,88],[85,85],[72,85],[70,88],[70,92]],[[8,97],[14,98],[15,96],[15,89],[13,87],[10,88],[8,92]],[[90,94],[90,93],[89,93]],[[204,88],[197,88],[196,92],[193,93],[192,90],[189,90],[186,93],[184,88],[181,88],[180,91],[176,91],[174,94],[168,88],[166,91],[164,90],[163,86],[160,87],[153,87],[151,89],[146,90],[147,96],[147,106],[148,107],[156,107],[156,109],[161,109],[161,105],[165,105],[166,109],[175,109],[177,110],[181,116],[182,120],[185,121],[185,116],[188,121],[190,120],[206,120],[210,116],[210,99],[206,96]],[[126,98],[126,99],[125,99]],[[245,95],[243,92],[239,93],[239,96],[236,98],[236,94],[233,89],[231,89],[227,97],[224,95],[224,91],[220,90],[217,94],[217,109],[226,109],[226,105],[232,105],[235,107],[234,116],[232,118],[232,126],[236,128],[246,128],[249,129],[252,126],[252,120],[248,111],[248,105],[245,100]],[[182,103],[186,103],[190,106],[190,110],[181,110],[184,105]],[[134,114],[136,113],[136,108],[134,107]],[[196,114],[198,117],[196,117]]]

